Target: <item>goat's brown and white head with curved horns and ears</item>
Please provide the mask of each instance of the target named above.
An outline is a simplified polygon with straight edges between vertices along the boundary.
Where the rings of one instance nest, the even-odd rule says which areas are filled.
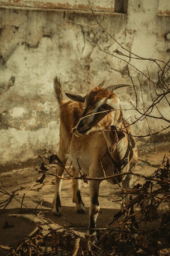
[[[102,88],[104,82],[84,97],[79,94],[66,93],[66,96],[73,101],[85,104],[84,112],[77,124],[79,134],[85,135],[108,128],[113,125],[115,115],[120,112],[120,101],[113,91],[129,85],[120,84]]]

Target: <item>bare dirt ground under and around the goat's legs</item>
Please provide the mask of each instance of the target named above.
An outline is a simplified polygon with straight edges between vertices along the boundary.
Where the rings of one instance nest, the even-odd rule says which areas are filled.
[[[152,174],[161,165],[166,154],[170,158],[170,143],[157,144],[156,152],[153,145],[141,148],[138,145],[139,161],[135,172],[146,175]],[[55,167],[50,172],[55,173]],[[34,166],[20,170],[11,170],[0,174],[0,245],[17,247],[19,241],[31,236],[41,225],[44,230],[64,227],[83,227],[78,231],[84,236],[88,227],[89,189],[82,181],[82,199],[86,207],[85,214],[75,212],[72,202],[71,180],[64,180],[62,184],[62,216],[55,217],[53,208],[53,194],[55,190],[54,177],[46,175],[42,184],[35,181],[40,177]],[[144,180],[138,180],[144,182]],[[121,189],[107,181],[100,184],[100,211],[97,227],[105,227],[113,220],[113,216],[120,210]],[[162,213],[165,209],[159,209]],[[152,225],[152,224],[150,224]],[[7,252],[0,249],[0,255]]]

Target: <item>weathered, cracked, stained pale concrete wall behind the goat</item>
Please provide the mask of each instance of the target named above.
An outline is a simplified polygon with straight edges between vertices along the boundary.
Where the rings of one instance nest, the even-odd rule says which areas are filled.
[[[148,66],[150,76],[156,79],[154,63],[131,59],[129,52],[124,62],[99,50],[96,42],[111,54],[115,49],[123,51],[99,27],[90,10],[12,8],[2,6],[4,2],[1,1],[0,8],[0,165],[3,169],[36,162],[43,148],[56,152],[59,119],[53,94],[54,76],[60,76],[65,91],[82,93],[104,79],[107,85],[131,84],[130,76],[138,91],[137,75],[141,83],[147,83],[146,78],[128,63],[144,73]],[[95,15],[123,47],[142,57],[166,62],[170,58],[170,16],[158,16],[159,1],[149,2],[129,1],[128,16],[106,11],[111,8],[108,5],[105,11],[96,11]],[[132,89],[119,90],[117,94],[123,99],[123,108],[130,106],[129,101],[135,101]],[[144,99],[149,101],[147,89]],[[168,106],[162,109],[168,115]],[[125,114],[135,115],[134,111]],[[151,125],[159,129],[161,124],[153,121]],[[148,132],[142,122],[137,123],[136,129],[137,133]]]

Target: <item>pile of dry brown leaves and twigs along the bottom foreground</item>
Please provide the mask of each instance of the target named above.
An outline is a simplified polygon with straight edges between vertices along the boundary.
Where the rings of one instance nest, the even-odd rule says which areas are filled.
[[[51,161],[51,157],[49,159]],[[43,172],[45,175],[46,171]],[[146,255],[170,255],[170,160],[164,157],[152,175],[140,176],[145,177],[143,185],[138,183],[133,189],[122,190],[122,193],[130,194],[128,204],[121,202],[121,210],[113,221],[107,227],[97,229],[97,244],[92,243],[93,238],[78,236],[69,227],[63,227],[63,231],[49,229],[46,234],[38,226],[37,232],[20,242],[16,249],[0,247],[9,252],[8,256],[130,256],[144,252]],[[165,209],[161,216],[160,204]],[[149,222],[152,222],[152,228],[146,225]]]

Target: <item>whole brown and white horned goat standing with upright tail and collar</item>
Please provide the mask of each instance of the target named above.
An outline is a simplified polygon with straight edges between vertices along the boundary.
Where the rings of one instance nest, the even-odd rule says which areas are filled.
[[[90,178],[110,176],[132,170],[137,162],[136,142],[130,135],[131,129],[124,121],[120,101],[113,90],[127,85],[102,88],[104,81],[86,96],[68,94],[72,99],[65,101],[60,80],[55,77],[54,90],[60,104],[60,145],[58,157],[66,164],[72,161],[73,176],[79,177],[79,166]],[[96,114],[97,113],[97,114]],[[83,118],[82,118],[83,117]],[[76,129],[72,133],[72,129]],[[103,131],[103,132],[102,132]],[[78,136],[76,136],[78,135]],[[77,157],[79,161],[77,162]],[[56,174],[62,176],[64,168],[57,167]],[[111,183],[122,182],[123,188],[132,185],[131,175],[108,179]],[[90,220],[88,234],[95,234],[99,212],[99,184],[101,180],[90,180]],[[73,180],[73,202],[78,213],[84,213],[80,195],[81,180]],[[53,213],[61,214],[62,180],[56,177]]]

